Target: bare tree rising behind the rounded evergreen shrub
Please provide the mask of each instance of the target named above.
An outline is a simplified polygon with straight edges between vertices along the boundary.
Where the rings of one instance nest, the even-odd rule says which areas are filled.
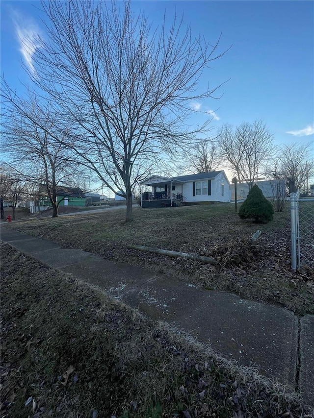
[[[262,120],[243,122],[235,129],[225,124],[217,141],[222,161],[236,173],[240,183],[248,184],[249,189],[275,151],[273,134]]]

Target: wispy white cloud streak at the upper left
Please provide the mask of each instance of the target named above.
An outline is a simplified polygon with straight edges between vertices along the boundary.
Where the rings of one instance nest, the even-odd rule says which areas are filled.
[[[41,47],[39,26],[32,19],[20,15],[16,10],[13,12],[12,20],[20,43],[20,52],[29,71],[35,75],[32,57],[36,49]]]

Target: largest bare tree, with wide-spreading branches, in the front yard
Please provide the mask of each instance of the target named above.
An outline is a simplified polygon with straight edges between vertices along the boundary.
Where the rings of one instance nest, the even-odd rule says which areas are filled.
[[[33,55],[35,83],[73,126],[69,146],[112,191],[127,200],[132,188],[157,167],[158,157],[187,144],[191,100],[209,63],[223,55],[183,20],[155,30],[130,2],[48,1],[49,41]],[[199,130],[205,130],[207,123]],[[61,128],[61,126],[60,126]]]

